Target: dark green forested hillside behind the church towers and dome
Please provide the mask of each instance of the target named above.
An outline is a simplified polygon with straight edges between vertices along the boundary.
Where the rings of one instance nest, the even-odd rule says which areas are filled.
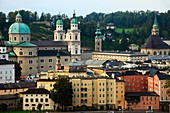
[[[16,14],[17,11],[9,12],[7,15],[0,12],[0,31],[7,40],[8,28],[15,22]],[[32,40],[53,40],[57,15],[38,14],[25,10],[21,10],[20,14],[23,22],[30,26]],[[94,48],[97,22],[100,22],[102,33],[105,36],[103,49],[127,50],[129,44],[142,45],[150,35],[155,15],[160,27],[160,36],[170,38],[170,10],[165,13],[155,11],[118,11],[109,14],[92,12],[85,17],[78,16],[82,47]],[[64,29],[67,30],[70,18],[66,14],[62,14],[62,18]],[[106,29],[108,23],[113,23],[115,29]]]

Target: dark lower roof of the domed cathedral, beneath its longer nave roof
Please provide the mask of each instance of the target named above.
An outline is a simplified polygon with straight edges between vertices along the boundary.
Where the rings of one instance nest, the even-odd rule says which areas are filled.
[[[65,50],[60,50],[61,56],[70,56],[70,53]],[[38,56],[57,56],[58,50],[38,50]]]

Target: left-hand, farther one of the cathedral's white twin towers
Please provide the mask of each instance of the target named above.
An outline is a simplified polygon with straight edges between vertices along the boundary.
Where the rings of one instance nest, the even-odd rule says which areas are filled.
[[[58,20],[56,22],[56,30],[54,31],[54,41],[64,41],[65,31],[63,30],[63,20],[61,15],[58,15]]]

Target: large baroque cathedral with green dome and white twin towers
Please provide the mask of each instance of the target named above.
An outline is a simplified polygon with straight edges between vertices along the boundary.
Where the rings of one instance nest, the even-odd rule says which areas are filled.
[[[67,32],[63,30],[63,21],[59,15],[53,41],[31,41],[30,28],[22,22],[19,12],[15,21],[9,27],[9,41],[0,39],[0,43],[3,43],[1,45],[5,45],[1,59],[18,62],[22,67],[22,75],[35,75],[43,70],[60,69],[58,65],[63,66],[81,60],[80,29],[75,13]]]

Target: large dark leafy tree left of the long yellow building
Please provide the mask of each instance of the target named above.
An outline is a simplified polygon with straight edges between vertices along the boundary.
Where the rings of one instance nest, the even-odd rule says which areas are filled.
[[[62,110],[64,110],[64,106],[72,105],[72,85],[69,82],[68,78],[60,78],[57,79],[54,84],[54,88],[51,91],[51,98],[55,103],[58,103],[62,106]]]

